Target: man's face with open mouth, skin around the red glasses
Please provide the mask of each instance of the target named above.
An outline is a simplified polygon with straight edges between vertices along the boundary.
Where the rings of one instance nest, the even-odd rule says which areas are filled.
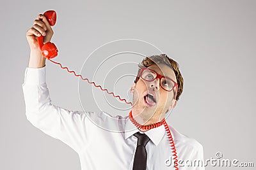
[[[177,82],[174,71],[166,64],[153,64],[147,68]],[[131,87],[131,92],[133,93],[133,109],[136,115],[140,116],[144,122],[148,120],[151,122],[161,121],[166,111],[172,109],[177,102],[173,99],[175,90],[177,89],[168,92],[160,86],[159,81],[159,78],[154,81],[145,81],[140,78]],[[152,94],[156,102],[148,97],[148,94]]]

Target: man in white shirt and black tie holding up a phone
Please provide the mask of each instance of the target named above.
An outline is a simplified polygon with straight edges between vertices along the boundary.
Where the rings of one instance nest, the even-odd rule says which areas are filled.
[[[111,117],[103,111],[69,111],[51,104],[45,82],[45,58],[36,36],[44,36],[47,42],[52,34],[44,15],[38,15],[26,34],[30,47],[22,84],[26,117],[45,134],[73,148],[79,154],[81,169],[175,169],[176,152],[179,160],[204,159],[198,141],[164,124],[164,115],[175,107],[182,93],[183,78],[177,62],[162,54],[147,57],[139,64],[138,76],[131,87],[129,117]],[[119,132],[101,129],[95,122]],[[169,139],[168,129],[172,134]],[[180,161],[179,169],[185,169],[182,164]]]

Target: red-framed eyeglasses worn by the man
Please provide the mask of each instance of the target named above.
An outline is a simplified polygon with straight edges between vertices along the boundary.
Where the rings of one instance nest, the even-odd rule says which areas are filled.
[[[138,81],[138,78],[142,78],[145,81],[154,81],[157,78],[159,78],[160,86],[164,90],[171,92],[176,87],[174,99],[177,96],[178,83],[176,83],[171,78],[168,78],[166,76],[162,76],[162,75],[156,73],[156,71],[154,71],[152,69],[147,69],[146,67],[142,67],[140,70],[140,73],[138,74],[138,76],[136,78],[136,81]]]

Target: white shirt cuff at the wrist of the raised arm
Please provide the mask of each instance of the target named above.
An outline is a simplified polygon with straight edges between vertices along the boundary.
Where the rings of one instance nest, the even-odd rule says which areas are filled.
[[[45,67],[29,68],[26,67],[24,83],[27,85],[41,85],[45,83]]]

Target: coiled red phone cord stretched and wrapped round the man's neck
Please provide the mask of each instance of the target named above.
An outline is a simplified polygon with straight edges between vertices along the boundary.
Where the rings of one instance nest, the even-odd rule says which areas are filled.
[[[127,104],[131,104],[131,102],[127,102],[126,99],[121,99],[120,96],[115,96],[115,94],[113,92],[108,92],[108,89],[103,89],[100,85],[95,85],[95,83],[93,81],[89,81],[88,78],[83,78],[83,76],[81,76],[81,74],[76,74],[74,71],[69,71],[68,67],[63,67],[59,62],[55,62],[49,58],[47,58],[48,60],[50,60],[51,62],[53,62],[54,64],[58,64],[60,65],[60,67],[62,69],[67,69],[68,73],[74,73],[75,76],[79,76],[81,77],[82,80],[86,80],[88,81],[88,83],[93,84],[95,87],[100,88],[102,91],[106,91],[108,94],[112,94],[114,97],[118,97],[118,99],[120,99],[120,101],[124,101]],[[172,149],[172,155],[173,155],[173,159],[174,159],[174,166],[176,170],[178,170],[178,157],[177,157],[177,152],[176,152],[176,148],[175,148],[175,144],[172,138],[172,133],[168,127],[168,124],[165,121],[165,118],[161,121],[161,122],[157,122],[156,124],[151,124],[151,125],[140,125],[138,124],[138,122],[136,122],[136,120],[134,120],[134,118],[132,117],[132,111],[130,111],[129,113],[129,119],[131,120],[132,124],[134,124],[138,129],[143,129],[143,130],[149,130],[149,129],[153,129],[156,127],[159,127],[161,125],[164,125],[165,131],[166,131],[166,136],[169,139],[170,142],[170,147]]]

